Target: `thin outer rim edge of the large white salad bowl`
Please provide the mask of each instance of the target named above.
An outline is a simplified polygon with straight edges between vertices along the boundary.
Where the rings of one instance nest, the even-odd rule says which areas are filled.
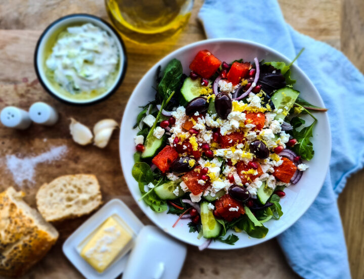
[[[143,77],[141,78],[141,80],[138,82],[138,84],[135,86],[132,94],[130,95],[129,99],[128,99],[128,102],[125,106],[125,109],[124,109],[124,112],[123,112],[123,117],[122,117],[122,120],[121,120],[121,125],[120,125],[120,136],[119,136],[119,156],[120,156],[120,163],[121,163],[121,168],[122,168],[122,172],[124,174],[124,178],[125,178],[125,182],[127,184],[127,188],[129,190],[129,192],[131,193],[131,196],[133,197],[134,201],[136,202],[136,204],[138,204],[139,208],[143,211],[143,213],[155,224],[157,225],[160,229],[163,230],[163,226],[152,216],[152,214],[148,213],[145,211],[145,209],[143,208],[142,206],[142,203],[141,201],[138,201],[139,200],[139,197],[136,197],[134,195],[134,193],[130,190],[130,187],[129,187],[129,184],[127,183],[127,178],[126,177],[129,177],[131,176],[131,173],[126,173],[126,170],[124,170],[123,168],[123,162],[125,160],[128,160],[128,158],[125,158],[123,159],[123,155],[122,155],[122,134],[124,132],[128,132],[128,131],[125,131],[124,127],[126,126],[125,122],[129,121],[127,120],[127,117],[124,117],[125,116],[125,113],[126,111],[128,111],[131,106],[131,103],[129,102],[130,101],[130,98],[131,96],[134,94],[135,91],[138,91],[141,87],[143,87],[143,84],[144,84],[144,79],[145,77],[147,76],[148,73],[150,72],[153,72],[156,70],[156,68],[162,64],[162,62],[164,61],[167,61],[167,60],[171,60],[173,58],[175,58],[176,54],[179,54],[179,53],[184,53],[186,51],[189,51],[189,49],[192,49],[192,48],[195,48],[196,46],[198,45],[203,45],[203,44],[206,44],[206,43],[231,43],[231,42],[234,42],[234,43],[243,43],[243,44],[249,44],[253,47],[257,47],[257,48],[260,48],[260,49],[263,49],[271,54],[274,54],[276,56],[279,56],[279,57],[282,57],[283,60],[285,60],[287,63],[289,63],[289,61],[291,61],[291,59],[287,58],[285,55],[281,54],[280,52],[274,50],[274,49],[271,49],[269,46],[266,46],[264,44],[261,44],[261,43],[257,43],[257,42],[254,42],[254,41],[250,41],[250,40],[245,40],[245,39],[238,39],[238,38],[214,38],[214,39],[205,39],[205,40],[201,40],[201,41],[197,41],[197,42],[193,42],[193,43],[190,43],[190,44],[187,44],[187,45],[184,45],[182,46],[181,48],[171,52],[170,54],[166,55],[165,57],[163,57],[162,59],[160,59],[156,64],[154,64],[144,75]],[[305,72],[299,68],[296,64],[293,64],[291,67],[293,67],[295,69],[295,71],[298,72],[299,75],[302,75],[303,77],[305,77],[308,82],[311,84],[311,86],[313,87],[314,89],[314,92],[312,94],[316,95],[317,98],[319,98],[321,104],[324,104],[324,101],[319,93],[319,91],[317,91],[316,87],[314,86],[314,84],[312,83],[312,81],[309,79],[309,77],[305,74]],[[304,211],[302,211],[300,214],[297,214],[296,217],[295,217],[295,220],[289,224],[285,223],[283,224],[279,229],[277,229],[274,233],[271,233],[271,234],[267,234],[264,238],[262,239],[259,239],[259,242],[258,243],[248,243],[244,246],[237,246],[237,245],[224,245],[224,246],[219,246],[219,247],[208,247],[208,249],[212,249],[212,250],[235,250],[235,249],[242,249],[242,248],[247,248],[247,247],[251,247],[251,246],[255,246],[255,245],[258,245],[258,244],[261,244],[263,242],[266,242],[272,238],[275,238],[277,236],[279,236],[280,234],[282,234],[282,232],[284,232],[286,229],[288,229],[289,227],[291,227],[294,223],[296,223],[302,216],[303,214],[305,214],[307,212],[307,210],[310,208],[310,206],[312,205],[312,203],[316,200],[317,196],[319,195],[319,193],[321,192],[321,189],[323,187],[323,184],[325,182],[325,178],[327,176],[327,173],[328,173],[328,170],[329,170],[329,164],[330,164],[330,158],[331,158],[331,142],[332,142],[332,139],[331,139],[331,127],[330,127],[330,122],[329,122],[329,117],[328,117],[328,113],[326,112],[325,113],[325,120],[326,120],[326,123],[327,123],[327,128],[328,128],[328,133],[329,133],[329,138],[326,142],[326,146],[328,147],[328,149],[330,150],[329,154],[328,154],[328,157],[325,158],[326,161],[327,161],[327,164],[326,164],[326,167],[325,167],[325,176],[323,176],[323,178],[319,181],[319,184],[320,186],[317,188],[317,192],[315,193],[315,195],[312,195],[311,196],[311,199],[306,203],[306,209]],[[132,178],[134,179],[134,178]],[[153,212],[154,213],[154,212]],[[154,213],[154,214],[157,214],[157,213]],[[187,243],[187,244],[190,244],[190,245],[193,245],[193,246],[198,246],[196,243],[193,243],[189,240],[186,240],[183,238],[183,236],[178,236],[178,235],[175,235],[173,234],[170,230],[166,231],[168,235],[170,235],[171,237],[173,238],[176,238],[178,239],[179,241],[182,241],[184,243]],[[188,234],[188,230],[186,231],[186,234]]]

